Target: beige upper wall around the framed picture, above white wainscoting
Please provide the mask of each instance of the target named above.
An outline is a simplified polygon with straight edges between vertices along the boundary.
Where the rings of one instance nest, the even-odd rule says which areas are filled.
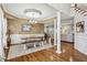
[[[44,24],[42,23],[34,23],[31,24],[31,31],[30,32],[23,32],[22,25],[29,23],[28,20],[24,19],[8,19],[8,24],[11,34],[33,34],[33,33],[43,33],[44,32]],[[29,23],[30,24],[30,23]]]

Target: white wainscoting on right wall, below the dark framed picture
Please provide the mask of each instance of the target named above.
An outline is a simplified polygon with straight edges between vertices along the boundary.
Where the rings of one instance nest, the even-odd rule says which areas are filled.
[[[75,48],[87,55],[87,35],[78,34],[75,39]]]

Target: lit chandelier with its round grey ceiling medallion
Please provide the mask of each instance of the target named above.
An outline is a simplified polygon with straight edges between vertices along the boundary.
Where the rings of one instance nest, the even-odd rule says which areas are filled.
[[[30,18],[30,23],[37,23],[36,19],[42,15],[42,12],[36,9],[25,9],[24,13],[28,18]]]

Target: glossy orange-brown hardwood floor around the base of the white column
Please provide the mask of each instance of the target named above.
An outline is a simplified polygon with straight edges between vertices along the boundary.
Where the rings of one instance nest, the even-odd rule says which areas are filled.
[[[56,46],[19,56],[7,62],[87,62],[87,56],[73,47],[72,43],[62,42],[62,53],[56,53]]]

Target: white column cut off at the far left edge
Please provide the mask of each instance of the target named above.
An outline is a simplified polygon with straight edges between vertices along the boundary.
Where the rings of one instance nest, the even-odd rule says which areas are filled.
[[[4,61],[2,22],[3,22],[3,12],[0,7],[0,61]]]

